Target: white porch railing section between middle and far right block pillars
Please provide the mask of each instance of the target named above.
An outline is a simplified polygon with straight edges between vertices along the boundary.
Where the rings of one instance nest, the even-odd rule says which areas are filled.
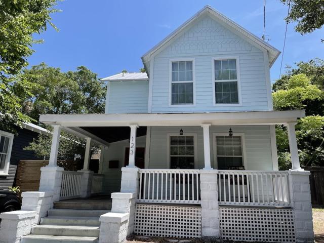
[[[289,207],[286,171],[218,171],[219,205]]]

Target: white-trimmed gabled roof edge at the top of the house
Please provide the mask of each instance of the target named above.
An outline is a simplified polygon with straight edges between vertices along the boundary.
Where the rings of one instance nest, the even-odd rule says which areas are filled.
[[[262,49],[267,50],[268,56],[269,56],[269,65],[270,67],[274,63],[274,61],[277,59],[277,57],[280,54],[280,51],[276,48],[272,47],[268,43],[264,42],[261,38],[254,35],[250,31],[246,30],[242,26],[238,25],[234,21],[227,18],[225,15],[221,14],[217,10],[213,9],[211,6],[207,5],[200,11],[198,11],[194,16],[192,16],[190,19],[188,19],[186,22],[184,22],[182,25],[180,25],[179,28],[177,28],[175,31],[173,31],[171,34],[169,34],[166,38],[164,38],[161,42],[159,42],[156,46],[154,46],[152,49],[150,49],[148,52],[146,52],[142,56],[142,61],[144,64],[144,67],[149,75],[149,60],[153,54],[158,52],[161,48],[163,48],[165,45],[169,44],[173,39],[177,38],[192,22],[194,22],[197,18],[199,18],[202,15],[209,15],[214,19],[217,19],[219,22],[225,24],[229,27],[232,31],[237,33],[238,35],[242,37],[246,37],[247,41],[250,43],[253,43]]]

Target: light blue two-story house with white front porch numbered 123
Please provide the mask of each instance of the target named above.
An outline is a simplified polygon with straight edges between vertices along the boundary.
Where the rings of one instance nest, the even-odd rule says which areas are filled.
[[[41,115],[54,132],[39,188],[48,194],[37,198],[111,195],[111,212],[100,216],[98,235],[79,226],[95,237],[87,242],[123,242],[131,233],[311,241],[309,174],[300,168],[295,135],[305,112],[273,110],[269,69],[279,54],[204,7],[142,56],[146,72],[103,78],[105,114]],[[291,171],[278,171],[275,125],[287,126]],[[87,170],[87,160],[79,172],[56,166],[61,129],[87,138],[85,157],[92,139],[103,146],[101,176]],[[23,242],[57,233],[44,222],[32,226]],[[59,233],[75,235],[66,227]]]

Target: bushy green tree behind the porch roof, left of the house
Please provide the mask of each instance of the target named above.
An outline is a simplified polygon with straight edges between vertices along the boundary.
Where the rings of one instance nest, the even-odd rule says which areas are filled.
[[[84,66],[64,73],[41,63],[24,70],[23,75],[33,76],[32,82],[41,86],[22,104],[24,112],[36,120],[44,113],[104,112],[106,86]]]

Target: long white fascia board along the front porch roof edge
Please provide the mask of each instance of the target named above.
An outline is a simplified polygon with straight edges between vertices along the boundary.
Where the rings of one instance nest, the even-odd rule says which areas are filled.
[[[214,113],[136,113],[136,114],[43,114],[39,120],[63,127],[138,126],[212,126],[275,125],[294,123],[304,117],[304,110],[246,111]]]

